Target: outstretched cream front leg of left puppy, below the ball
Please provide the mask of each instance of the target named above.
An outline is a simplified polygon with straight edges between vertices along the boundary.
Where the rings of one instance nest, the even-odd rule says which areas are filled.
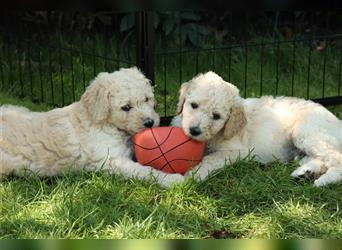
[[[167,174],[149,166],[142,166],[128,158],[113,159],[110,171],[114,174],[119,172],[126,178],[138,178],[140,180],[155,179],[158,184],[164,187],[170,187],[174,183],[181,183],[185,179],[183,175]]]

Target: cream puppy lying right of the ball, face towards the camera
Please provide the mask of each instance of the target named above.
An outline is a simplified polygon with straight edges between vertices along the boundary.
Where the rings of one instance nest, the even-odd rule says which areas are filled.
[[[293,177],[313,175],[316,186],[342,180],[342,122],[319,104],[292,97],[243,99],[213,72],[200,74],[180,90],[172,122],[209,154],[192,173],[204,179],[226,161],[250,152],[261,163],[304,154]]]

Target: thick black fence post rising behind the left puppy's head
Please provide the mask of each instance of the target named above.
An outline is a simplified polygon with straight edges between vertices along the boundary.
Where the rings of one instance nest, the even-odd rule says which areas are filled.
[[[154,85],[155,34],[153,12],[139,11],[135,14],[137,66]]]

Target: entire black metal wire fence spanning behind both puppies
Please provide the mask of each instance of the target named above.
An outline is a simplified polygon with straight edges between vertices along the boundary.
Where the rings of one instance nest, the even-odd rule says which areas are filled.
[[[156,83],[163,116],[174,114],[179,85],[208,70],[245,97],[342,103],[339,13],[101,12],[86,21],[85,14],[69,15],[1,13],[1,92],[64,106],[97,73],[138,65]]]

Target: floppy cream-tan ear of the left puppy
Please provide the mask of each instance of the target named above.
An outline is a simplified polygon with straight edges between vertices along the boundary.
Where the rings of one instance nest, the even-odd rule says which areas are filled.
[[[95,123],[107,120],[109,115],[109,89],[101,82],[101,74],[88,86],[81,97],[81,102],[87,109],[89,117]]]

